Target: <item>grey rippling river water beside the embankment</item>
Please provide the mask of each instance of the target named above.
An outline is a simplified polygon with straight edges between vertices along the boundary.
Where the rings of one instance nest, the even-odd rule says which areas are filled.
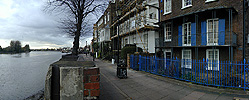
[[[0,54],[0,100],[22,100],[42,90],[50,64],[61,52]]]

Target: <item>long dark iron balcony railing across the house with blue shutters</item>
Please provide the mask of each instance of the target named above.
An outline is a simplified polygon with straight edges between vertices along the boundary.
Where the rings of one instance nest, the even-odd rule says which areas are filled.
[[[170,41],[168,41],[170,40]],[[204,47],[204,46],[237,46],[237,34],[234,32],[200,33],[191,36],[172,36],[165,41],[164,37],[156,38],[156,47]]]

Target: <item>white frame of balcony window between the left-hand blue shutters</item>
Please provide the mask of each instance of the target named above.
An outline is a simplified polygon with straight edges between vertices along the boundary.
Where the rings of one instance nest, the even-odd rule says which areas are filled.
[[[185,40],[184,39],[184,37],[185,37],[184,28],[185,28],[185,25],[187,25],[187,36],[186,36],[187,37],[187,44],[184,44],[184,40]],[[191,46],[191,22],[182,24],[182,45],[183,46]]]

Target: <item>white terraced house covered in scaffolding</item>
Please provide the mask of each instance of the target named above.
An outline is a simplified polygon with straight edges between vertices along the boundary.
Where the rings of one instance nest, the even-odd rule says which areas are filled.
[[[155,53],[155,38],[158,37],[158,0],[116,0],[113,12],[111,40],[117,50],[118,34],[120,47],[136,44],[143,52]],[[120,15],[117,15],[120,12]]]

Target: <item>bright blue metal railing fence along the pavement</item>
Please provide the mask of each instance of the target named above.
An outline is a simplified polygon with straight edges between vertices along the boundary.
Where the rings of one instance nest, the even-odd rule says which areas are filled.
[[[249,62],[248,62],[249,63]],[[130,55],[130,67],[197,84],[249,89],[249,64],[243,62],[162,59]]]

